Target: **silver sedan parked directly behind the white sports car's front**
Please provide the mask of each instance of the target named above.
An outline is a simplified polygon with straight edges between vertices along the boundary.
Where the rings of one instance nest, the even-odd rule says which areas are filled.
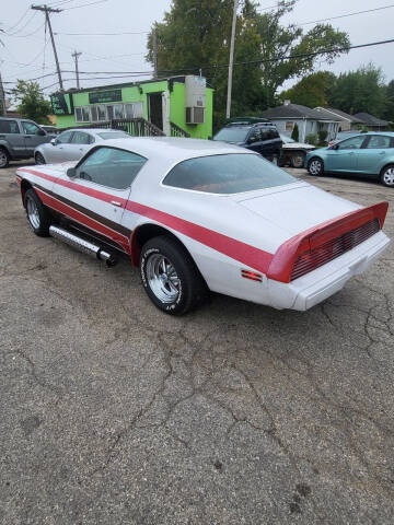
[[[34,160],[36,164],[78,161],[94,144],[125,137],[129,135],[118,129],[69,129],[49,143],[38,145],[34,151]]]

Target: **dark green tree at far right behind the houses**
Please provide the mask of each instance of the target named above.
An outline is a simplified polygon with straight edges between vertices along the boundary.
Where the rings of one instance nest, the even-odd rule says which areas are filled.
[[[385,88],[381,68],[372,63],[341,73],[328,95],[328,104],[343,112],[380,116],[385,107]]]

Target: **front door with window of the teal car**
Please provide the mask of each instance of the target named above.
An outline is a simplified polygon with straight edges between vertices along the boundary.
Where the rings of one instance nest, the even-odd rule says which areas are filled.
[[[338,142],[325,151],[325,170],[328,172],[357,172],[358,154],[366,137],[357,135]]]

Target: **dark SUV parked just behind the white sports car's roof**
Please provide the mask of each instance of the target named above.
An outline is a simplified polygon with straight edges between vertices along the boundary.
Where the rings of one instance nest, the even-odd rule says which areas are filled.
[[[277,164],[282,147],[278,130],[270,121],[255,120],[234,120],[218,131],[213,140],[221,140],[257,151]]]

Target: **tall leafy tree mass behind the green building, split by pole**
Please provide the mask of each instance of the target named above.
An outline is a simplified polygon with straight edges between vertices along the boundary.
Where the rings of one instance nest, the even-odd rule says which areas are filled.
[[[276,11],[259,14],[255,2],[245,0],[236,20],[232,115],[258,115],[277,102],[285,80],[313,70],[317,59],[311,54],[324,51],[318,60],[331,63],[344,52],[337,48],[349,46],[347,35],[331,25],[306,34],[294,25],[282,27],[280,19],[294,3],[281,0]],[[232,12],[233,0],[172,0],[164,22],[155,23],[148,36],[147,60],[153,65],[155,30],[159,77],[201,70],[215,88],[216,125],[224,118]]]

